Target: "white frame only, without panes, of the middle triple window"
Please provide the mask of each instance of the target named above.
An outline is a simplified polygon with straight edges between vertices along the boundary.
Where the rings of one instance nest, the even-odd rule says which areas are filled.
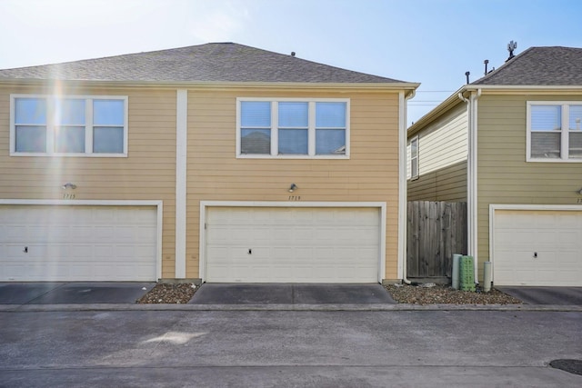
[[[241,103],[269,102],[271,103],[271,154],[241,154]],[[278,114],[277,103],[307,103],[309,106],[309,127],[307,129],[307,154],[277,154],[278,150]],[[316,154],[316,103],[345,103],[346,104],[346,153],[345,154]],[[350,153],[350,99],[349,98],[263,98],[237,97],[236,98],[236,158],[241,159],[349,159]]]

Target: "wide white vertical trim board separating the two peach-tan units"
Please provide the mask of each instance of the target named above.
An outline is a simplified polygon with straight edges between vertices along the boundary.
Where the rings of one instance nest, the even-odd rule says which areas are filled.
[[[186,278],[188,91],[176,91],[176,279]]]

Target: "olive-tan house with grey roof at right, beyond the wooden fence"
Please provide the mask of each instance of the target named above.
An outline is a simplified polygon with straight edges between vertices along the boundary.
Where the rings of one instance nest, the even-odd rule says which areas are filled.
[[[408,199],[467,201],[480,277],[580,286],[581,119],[582,48],[531,47],[408,128]]]

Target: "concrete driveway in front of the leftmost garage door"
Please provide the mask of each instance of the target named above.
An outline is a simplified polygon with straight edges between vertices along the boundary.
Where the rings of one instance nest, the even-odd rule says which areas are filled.
[[[135,303],[156,283],[0,283],[0,304]]]

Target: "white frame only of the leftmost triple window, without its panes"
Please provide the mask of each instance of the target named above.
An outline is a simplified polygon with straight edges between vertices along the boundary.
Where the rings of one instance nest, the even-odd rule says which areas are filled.
[[[46,152],[26,153],[16,151],[15,100],[37,98],[46,101]],[[85,100],[85,153],[55,152],[55,100]],[[93,102],[95,100],[122,100],[124,102],[124,144],[123,153],[105,154],[93,152]],[[10,156],[64,156],[64,157],[127,157],[128,96],[126,95],[10,95]]]

